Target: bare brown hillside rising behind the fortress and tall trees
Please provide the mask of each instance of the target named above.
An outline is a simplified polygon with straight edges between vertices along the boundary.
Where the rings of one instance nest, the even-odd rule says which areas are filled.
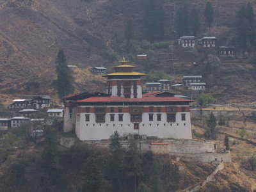
[[[173,11],[188,3],[200,10],[202,34],[214,34],[225,43],[234,31],[236,12],[247,1],[212,1],[214,28],[207,32],[205,1],[163,1],[164,40],[177,38]],[[143,37],[146,0],[6,0],[0,2],[0,92],[21,92],[26,83],[39,83],[40,91],[55,77],[54,61],[62,47],[70,65],[111,66],[118,61],[127,19],[137,39]],[[255,6],[255,3],[253,3]],[[142,50],[143,51],[143,50]],[[132,54],[136,54],[134,52]],[[44,82],[44,83],[43,83]]]

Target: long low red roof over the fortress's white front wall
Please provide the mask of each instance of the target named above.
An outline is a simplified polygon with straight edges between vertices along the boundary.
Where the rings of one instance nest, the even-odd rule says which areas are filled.
[[[90,97],[77,102],[193,102],[193,100],[182,99],[180,97],[156,97],[155,95],[149,95],[145,93],[142,98],[125,98],[125,97]]]

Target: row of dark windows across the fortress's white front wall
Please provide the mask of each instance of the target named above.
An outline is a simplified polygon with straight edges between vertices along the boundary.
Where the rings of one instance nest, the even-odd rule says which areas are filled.
[[[105,114],[97,114],[96,115],[96,122],[105,122]],[[110,114],[110,121],[114,122],[115,121],[115,114]],[[123,121],[123,116],[124,114],[118,114],[118,121],[122,122]],[[131,122],[142,122],[142,114],[131,114]],[[161,116],[162,114],[157,114],[157,122],[161,121]],[[80,120],[80,115],[77,115],[77,120]],[[150,122],[154,121],[154,113],[149,113],[148,114],[148,120]],[[181,114],[181,120],[186,121],[186,113]],[[90,115],[86,114],[85,115],[85,121],[90,122]],[[167,114],[167,122],[176,122],[176,114]]]

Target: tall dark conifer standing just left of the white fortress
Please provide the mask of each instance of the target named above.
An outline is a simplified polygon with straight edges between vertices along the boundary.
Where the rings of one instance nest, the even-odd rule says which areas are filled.
[[[60,97],[68,95],[74,91],[72,70],[68,67],[63,49],[60,49],[56,57],[57,79],[54,80],[54,86]]]

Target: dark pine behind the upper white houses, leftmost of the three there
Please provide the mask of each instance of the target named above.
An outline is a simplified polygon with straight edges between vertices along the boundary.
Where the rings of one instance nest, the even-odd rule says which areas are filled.
[[[189,35],[189,17],[186,5],[177,10],[175,26],[179,36]]]

